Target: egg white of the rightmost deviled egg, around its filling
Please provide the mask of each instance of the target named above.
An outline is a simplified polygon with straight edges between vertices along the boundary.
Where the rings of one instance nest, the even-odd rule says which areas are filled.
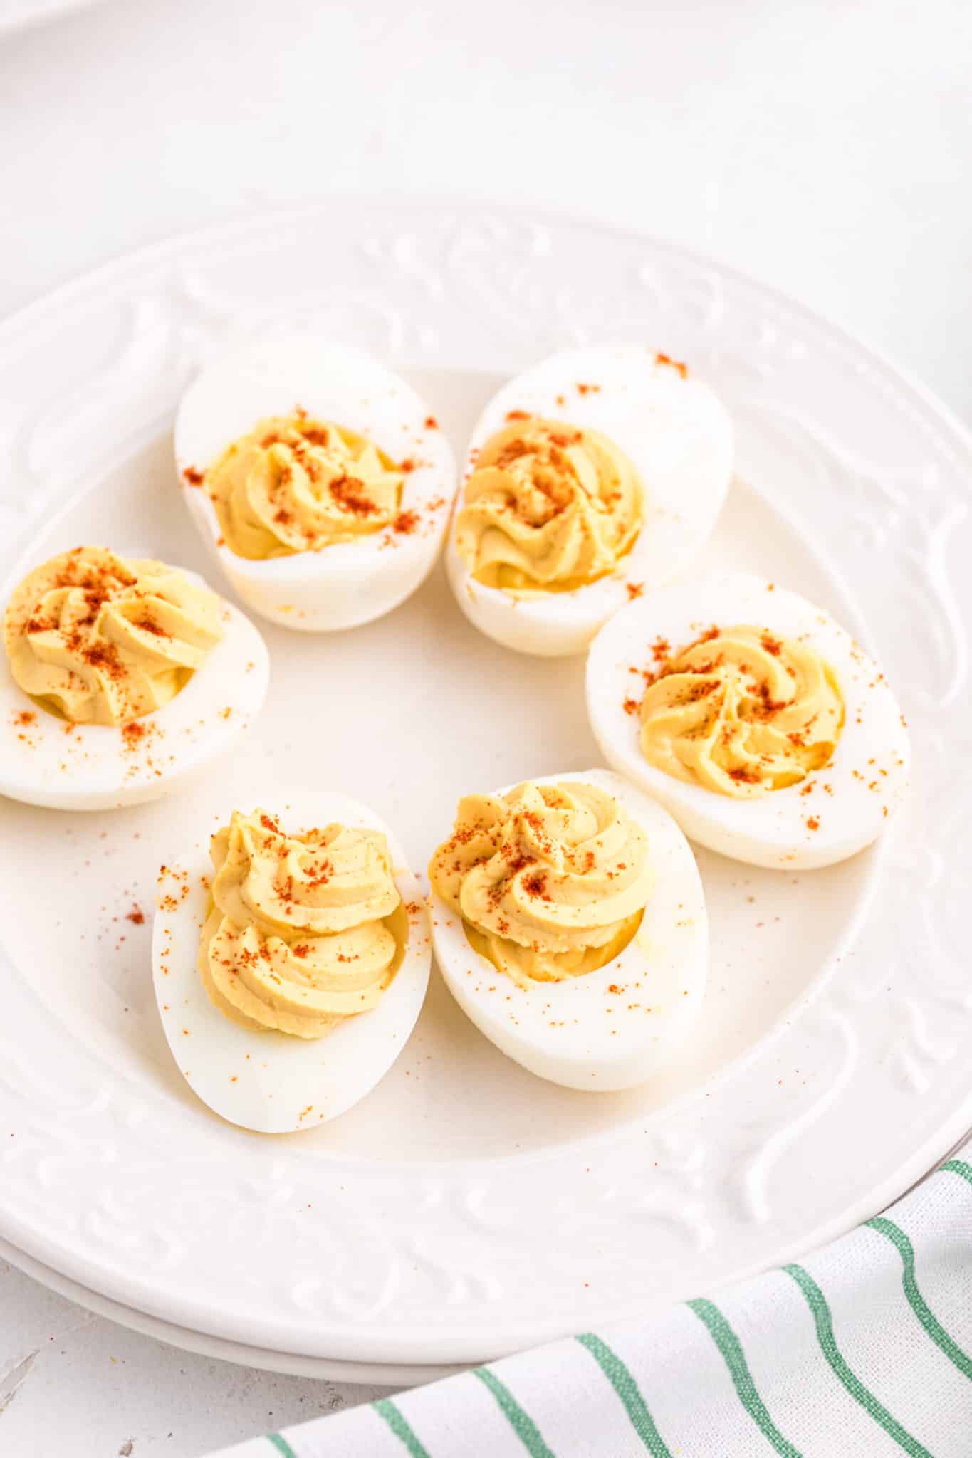
[[[829,764],[759,799],[733,799],[648,764],[637,704],[641,672],[657,666],[651,644],[662,640],[676,653],[710,624],[765,627],[816,649],[845,709]],[[665,588],[612,618],[590,649],[587,713],[608,763],[665,805],[686,835],[755,866],[812,869],[853,856],[880,835],[908,786],[908,733],[880,671],[822,608],[743,573]]]

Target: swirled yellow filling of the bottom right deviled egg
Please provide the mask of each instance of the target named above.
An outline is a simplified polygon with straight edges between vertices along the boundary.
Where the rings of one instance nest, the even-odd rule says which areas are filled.
[[[428,878],[474,949],[522,987],[618,956],[651,879],[644,831],[611,795],[573,780],[465,796]]]

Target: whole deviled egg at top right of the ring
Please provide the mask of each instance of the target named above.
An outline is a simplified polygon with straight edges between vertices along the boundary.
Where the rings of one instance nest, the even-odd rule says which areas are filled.
[[[462,611],[522,653],[583,652],[695,557],[732,468],[729,413],[685,364],[640,344],[549,356],[472,433],[446,550]]]

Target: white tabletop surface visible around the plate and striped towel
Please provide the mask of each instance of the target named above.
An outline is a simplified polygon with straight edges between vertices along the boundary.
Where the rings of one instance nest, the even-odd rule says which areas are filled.
[[[972,293],[968,6],[603,13],[506,0],[484,28],[478,7],[444,0],[248,15],[138,0],[7,39],[0,308],[133,245],[309,192],[539,198],[790,289],[969,414],[972,337],[955,328]],[[890,1054],[911,1077],[949,1050],[927,1034]],[[77,1458],[127,1438],[136,1455],[189,1458],[328,1403],[321,1384],[184,1357],[101,1319],[48,1343],[74,1317],[17,1273],[0,1302],[0,1371],[42,1347],[16,1397],[0,1397],[0,1435],[23,1458],[68,1438]]]

